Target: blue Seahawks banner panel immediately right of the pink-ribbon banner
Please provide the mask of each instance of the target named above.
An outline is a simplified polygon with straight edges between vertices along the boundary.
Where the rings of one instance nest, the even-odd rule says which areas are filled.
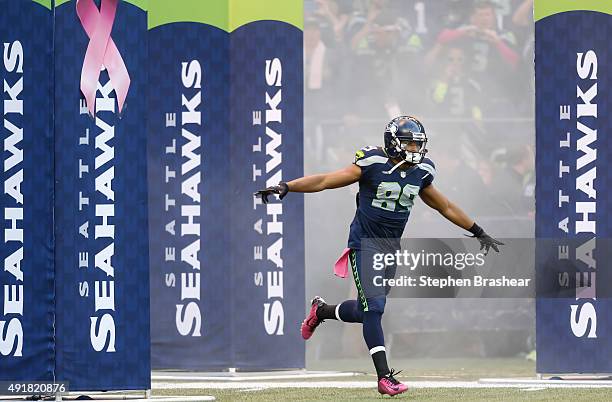
[[[207,3],[219,13],[227,11]],[[181,8],[197,20],[201,7],[150,2],[155,368],[224,368],[231,361],[229,37],[199,22],[164,23]]]

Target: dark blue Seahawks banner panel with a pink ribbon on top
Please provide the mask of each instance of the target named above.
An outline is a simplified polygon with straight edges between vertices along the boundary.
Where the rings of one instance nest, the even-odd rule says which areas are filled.
[[[71,391],[150,389],[141,3],[55,3],[55,370]]]

